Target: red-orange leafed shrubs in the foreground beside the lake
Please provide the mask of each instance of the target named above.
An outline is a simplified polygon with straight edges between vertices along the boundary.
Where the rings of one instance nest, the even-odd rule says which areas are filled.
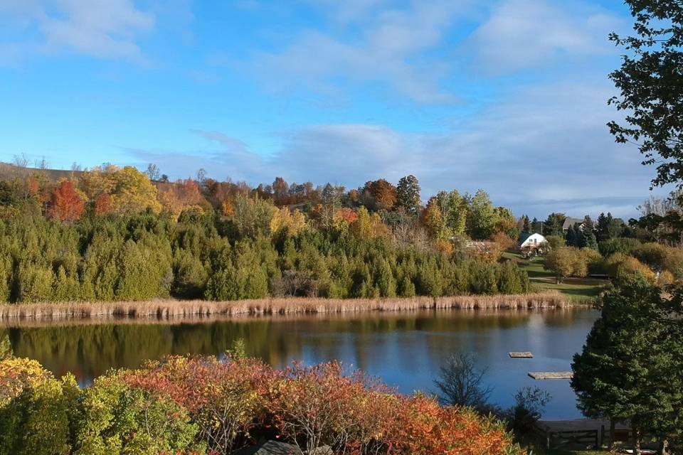
[[[184,407],[211,454],[270,437],[350,455],[521,453],[499,423],[397,395],[337,362],[278,371],[253,359],[169,357],[122,378]]]

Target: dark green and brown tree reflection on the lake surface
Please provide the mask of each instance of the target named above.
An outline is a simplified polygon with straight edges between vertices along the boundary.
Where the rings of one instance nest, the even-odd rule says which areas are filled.
[[[329,315],[300,319],[243,319],[210,323],[80,324],[36,328],[0,328],[9,331],[16,355],[36,358],[61,375],[67,371],[88,382],[110,368],[134,368],[143,360],[169,354],[213,354],[243,338],[248,355],[281,367],[289,359],[355,358],[359,368],[382,362],[385,355],[427,355],[438,364],[444,353],[462,348],[468,333],[517,328],[526,325],[531,311],[419,311],[396,314]],[[571,311],[543,314],[549,326],[569,326]],[[463,332],[464,337],[448,336]],[[397,352],[407,333],[412,353]],[[381,339],[381,341],[379,341]],[[487,343],[487,337],[478,337]],[[463,341],[465,340],[465,341]],[[484,340],[484,341],[481,341]],[[398,343],[398,344],[397,344]],[[393,346],[392,346],[393,345]],[[480,346],[487,350],[487,346]],[[393,360],[396,361],[396,360]]]

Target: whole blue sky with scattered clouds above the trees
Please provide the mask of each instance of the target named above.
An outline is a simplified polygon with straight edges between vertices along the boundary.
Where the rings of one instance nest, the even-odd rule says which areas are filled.
[[[0,161],[339,183],[635,215],[617,0],[0,0]],[[659,190],[663,194],[665,191]]]

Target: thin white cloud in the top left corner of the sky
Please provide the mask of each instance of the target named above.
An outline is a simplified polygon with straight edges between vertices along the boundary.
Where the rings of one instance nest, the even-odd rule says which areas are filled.
[[[25,52],[67,50],[137,62],[144,55],[135,38],[154,28],[154,16],[130,0],[10,0],[0,4],[0,20],[23,32],[23,41],[10,44]]]

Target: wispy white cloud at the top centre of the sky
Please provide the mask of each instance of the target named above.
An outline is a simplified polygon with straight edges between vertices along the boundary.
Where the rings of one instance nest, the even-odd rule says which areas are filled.
[[[354,14],[360,14],[359,9],[371,11],[358,37],[346,29],[339,36],[301,31],[279,52],[255,53],[250,67],[275,90],[335,93],[341,79],[381,82],[420,103],[453,102],[455,97],[439,87],[448,65],[425,61],[423,53],[440,45],[465,1],[420,1],[408,9],[375,9],[379,3],[354,3]],[[337,6],[333,11],[345,14],[347,7]]]

